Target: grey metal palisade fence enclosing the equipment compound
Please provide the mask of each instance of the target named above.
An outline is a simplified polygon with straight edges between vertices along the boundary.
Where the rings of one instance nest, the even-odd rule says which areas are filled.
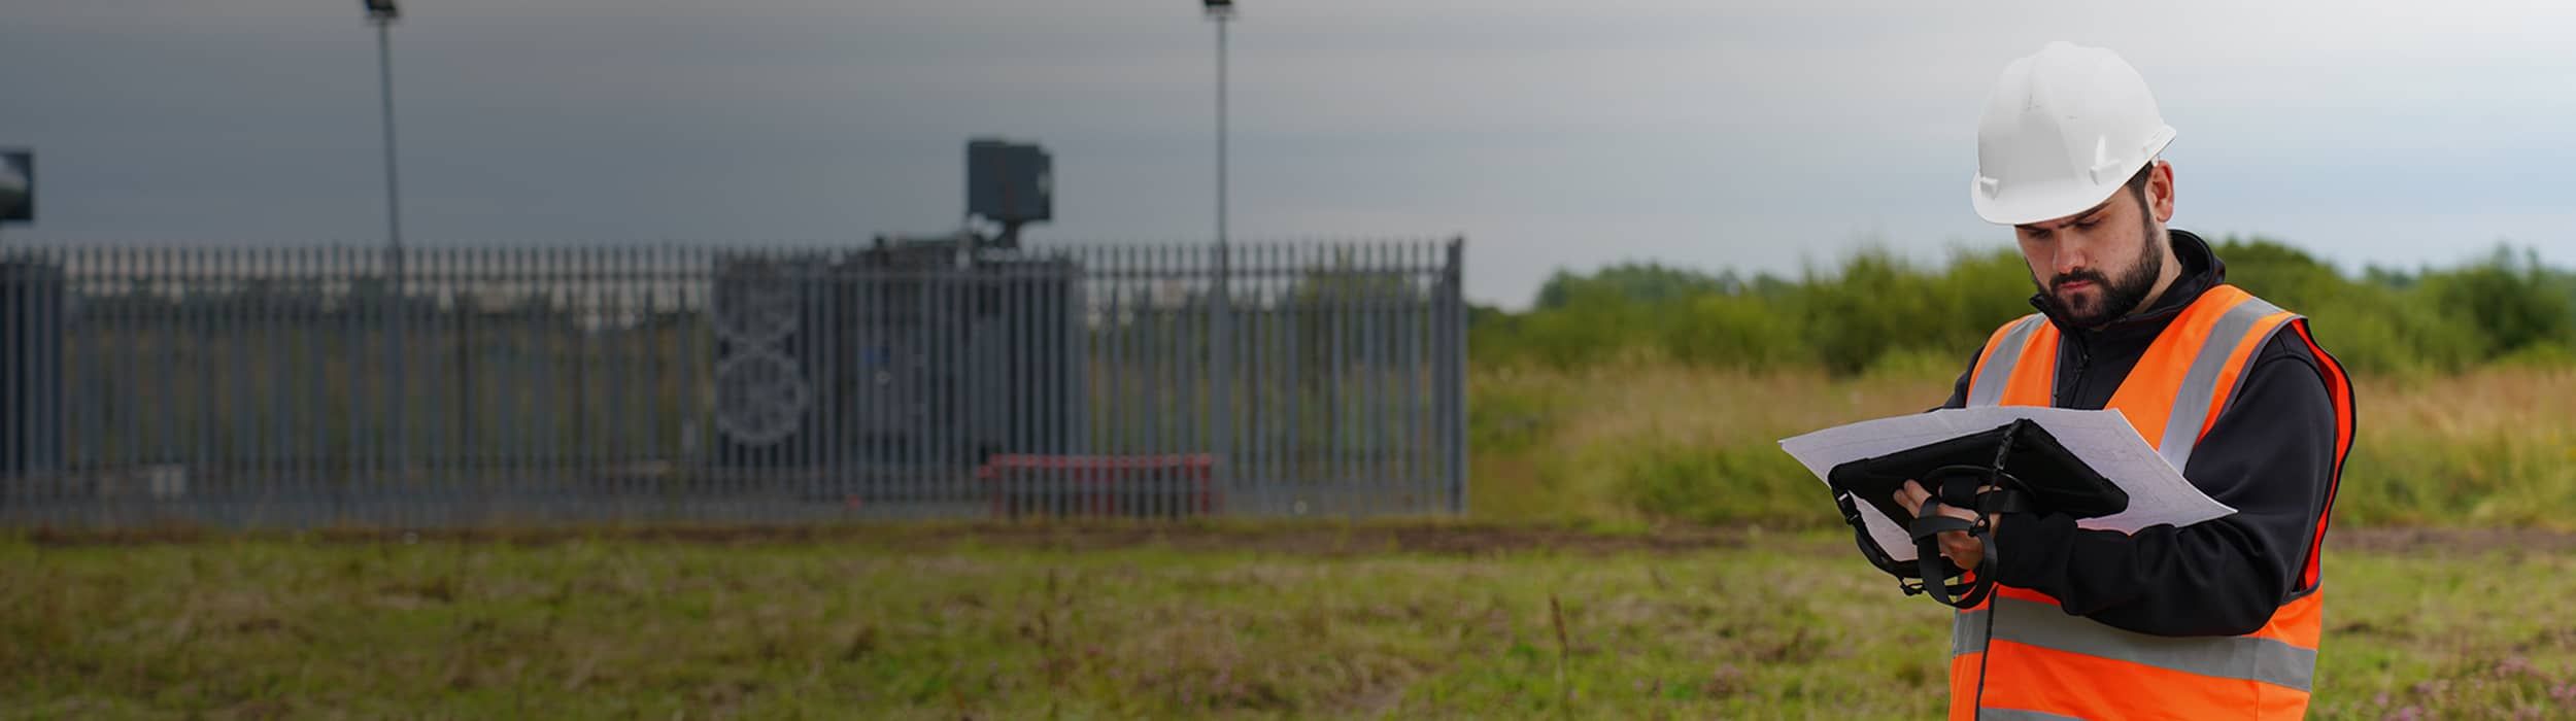
[[[13,247],[0,523],[1458,512],[1461,255]]]

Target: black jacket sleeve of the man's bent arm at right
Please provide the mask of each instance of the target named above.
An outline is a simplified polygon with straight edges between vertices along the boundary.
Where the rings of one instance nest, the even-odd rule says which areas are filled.
[[[2184,469],[2236,512],[2136,536],[2079,530],[2066,515],[2004,515],[1996,579],[2138,633],[2262,628],[2306,572],[2334,474],[2334,399],[2306,345],[2287,337],[2272,337]]]

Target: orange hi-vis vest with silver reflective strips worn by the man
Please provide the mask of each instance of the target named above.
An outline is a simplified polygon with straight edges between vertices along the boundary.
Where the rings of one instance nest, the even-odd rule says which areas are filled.
[[[2282,330],[2316,353],[2336,417],[2334,479],[2290,600],[2246,636],[2151,636],[2066,615],[2043,592],[1996,585],[1991,600],[1953,618],[1950,718],[2300,718],[2308,711],[2324,623],[2318,546],[2352,451],[2344,368],[2316,348],[2303,317],[2236,286],[2215,286],[2156,335],[2107,407],[2120,409],[2174,469],[2184,469],[2192,445],[2210,433],[2254,358]],[[2048,407],[2056,366],[2056,324],[2038,314],[2009,322],[1978,355],[1968,407]]]

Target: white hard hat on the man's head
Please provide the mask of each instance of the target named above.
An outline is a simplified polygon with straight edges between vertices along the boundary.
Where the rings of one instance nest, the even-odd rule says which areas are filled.
[[[2120,54],[2053,41],[2014,59],[1976,121],[1968,198],[1991,224],[2032,224],[2099,206],[2154,162],[2174,126]]]

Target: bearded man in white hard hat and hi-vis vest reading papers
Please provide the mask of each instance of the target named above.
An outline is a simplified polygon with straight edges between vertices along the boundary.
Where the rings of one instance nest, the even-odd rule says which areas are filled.
[[[1953,621],[1953,718],[2308,708],[2352,384],[2306,319],[2226,286],[2208,242],[2164,227],[2174,167],[2156,154],[2172,139],[2112,52],[2048,44],[2004,70],[1978,121],[1971,201],[2014,229],[2040,314],[1996,330],[1945,407],[2120,409],[2236,512],[2136,536],[1999,512],[1994,548],[1942,533],[1963,569],[1996,556],[1994,597]],[[1899,505],[1927,494],[1906,484]]]

